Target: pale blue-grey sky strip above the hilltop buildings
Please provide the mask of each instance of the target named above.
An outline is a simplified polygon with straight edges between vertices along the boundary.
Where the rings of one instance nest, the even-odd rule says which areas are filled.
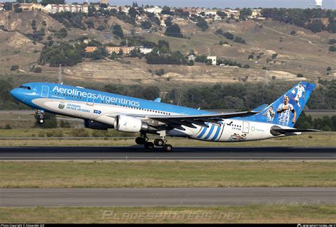
[[[83,2],[83,0],[66,0],[67,2]],[[90,1],[90,0],[89,0]],[[91,0],[94,1],[94,0]],[[96,0],[98,1],[98,0]],[[130,5],[133,0],[108,0],[111,5]],[[244,7],[284,7],[284,8],[308,8],[315,5],[315,0],[137,0],[138,4],[154,5],[154,6],[203,6],[218,8],[244,8]],[[323,8],[336,9],[336,0],[323,0]]]

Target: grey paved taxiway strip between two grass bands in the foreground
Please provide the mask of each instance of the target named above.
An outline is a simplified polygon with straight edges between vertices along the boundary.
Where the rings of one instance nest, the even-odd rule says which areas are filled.
[[[0,206],[336,204],[335,187],[0,189]]]

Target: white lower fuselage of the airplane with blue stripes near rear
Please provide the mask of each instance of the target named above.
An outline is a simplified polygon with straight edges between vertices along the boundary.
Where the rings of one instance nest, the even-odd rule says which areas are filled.
[[[69,99],[52,99],[52,98],[38,98],[33,99],[33,103],[37,106],[41,106],[42,109],[47,111],[73,116],[75,118],[88,119],[97,121],[113,126],[114,119],[118,114],[125,115],[181,115],[181,113],[174,112],[161,112],[150,109],[140,109],[137,107],[129,107],[123,105],[111,105],[111,104],[93,104],[88,101],[76,101]],[[155,123],[150,118],[141,118],[142,121]],[[163,124],[163,123],[158,123]],[[270,129],[272,126],[276,126],[273,123],[260,123],[256,121],[244,121],[243,118],[228,118],[219,123],[206,123],[208,127],[196,126],[196,128],[190,128],[182,126],[185,131],[175,128],[172,131],[168,131],[168,136],[181,136],[187,138],[193,138],[196,140],[206,140],[214,142],[240,142],[249,140],[264,140],[268,138],[276,138],[282,135],[272,135]],[[281,126],[282,128],[289,128]],[[300,133],[296,133],[299,135]]]

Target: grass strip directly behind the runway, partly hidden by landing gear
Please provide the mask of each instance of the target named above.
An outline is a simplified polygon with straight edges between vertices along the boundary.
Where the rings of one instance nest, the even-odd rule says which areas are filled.
[[[62,129],[63,130],[63,129]],[[72,135],[74,129],[64,129],[63,136],[67,138]],[[55,132],[55,133],[53,133]],[[86,129],[92,135],[93,130]],[[43,136],[46,133],[57,135],[57,131],[50,129],[32,129],[30,130],[0,130],[0,137],[30,137],[31,134],[38,136],[40,133]],[[80,135],[80,134],[77,134]],[[104,137],[108,136],[136,136],[133,133],[118,133],[116,131],[108,132],[108,134],[96,134]],[[336,147],[336,132],[323,132],[323,133],[305,133],[303,135],[289,136],[283,138],[274,138],[269,140],[259,140],[243,143],[213,143],[204,142],[200,140],[189,140],[186,138],[169,138],[169,143],[173,146],[192,146],[192,147]],[[131,146],[135,145],[135,138],[70,138],[70,139],[55,139],[45,138],[43,140],[32,139],[13,139],[13,140],[0,140],[0,146]]]

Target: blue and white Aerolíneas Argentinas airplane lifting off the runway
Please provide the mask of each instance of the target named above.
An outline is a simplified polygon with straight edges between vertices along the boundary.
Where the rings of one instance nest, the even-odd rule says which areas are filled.
[[[162,103],[161,98],[145,100],[47,82],[23,84],[12,89],[11,95],[38,110],[38,123],[44,123],[45,112],[82,118],[86,128],[140,133],[135,143],[150,150],[157,146],[170,152],[173,148],[167,143],[168,136],[241,142],[316,132],[293,128],[314,88],[315,84],[300,82],[272,104],[233,113],[191,109]],[[152,143],[147,134],[158,138]]]

